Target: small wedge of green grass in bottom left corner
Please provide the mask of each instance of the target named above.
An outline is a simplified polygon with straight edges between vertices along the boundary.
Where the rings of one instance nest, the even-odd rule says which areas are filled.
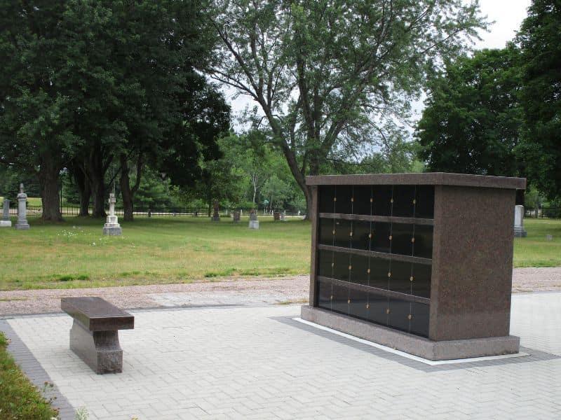
[[[50,420],[58,416],[58,412],[15,364],[6,346],[8,340],[0,332],[0,419]]]

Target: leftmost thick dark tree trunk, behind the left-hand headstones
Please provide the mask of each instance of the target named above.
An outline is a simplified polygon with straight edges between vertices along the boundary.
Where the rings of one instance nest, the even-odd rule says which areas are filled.
[[[60,183],[59,174],[62,165],[60,158],[51,153],[44,153],[39,167],[39,185],[41,186],[41,201],[43,202],[43,221],[62,221],[60,213]]]

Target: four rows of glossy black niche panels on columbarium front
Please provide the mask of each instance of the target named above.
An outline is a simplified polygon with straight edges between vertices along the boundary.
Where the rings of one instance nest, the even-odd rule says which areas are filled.
[[[433,186],[321,186],[320,213],[433,218]],[[433,226],[319,218],[318,244],[432,258]],[[429,304],[386,297],[381,290],[430,298],[431,265],[318,250],[318,306],[428,337]],[[381,289],[360,290],[356,285]]]

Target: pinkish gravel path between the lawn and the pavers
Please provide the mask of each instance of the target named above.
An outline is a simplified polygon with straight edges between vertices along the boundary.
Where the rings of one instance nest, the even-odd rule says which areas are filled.
[[[0,291],[0,316],[60,312],[60,298],[65,296],[102,296],[118,307],[129,309],[299,303],[307,302],[308,288],[309,276],[292,276],[152,286]],[[514,269],[514,293],[540,291],[561,291],[561,267]]]

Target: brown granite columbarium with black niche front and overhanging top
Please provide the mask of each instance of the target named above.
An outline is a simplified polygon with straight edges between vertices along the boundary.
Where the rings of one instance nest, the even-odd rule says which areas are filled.
[[[525,179],[308,176],[302,318],[429,360],[518,353],[510,335],[513,207]]]

